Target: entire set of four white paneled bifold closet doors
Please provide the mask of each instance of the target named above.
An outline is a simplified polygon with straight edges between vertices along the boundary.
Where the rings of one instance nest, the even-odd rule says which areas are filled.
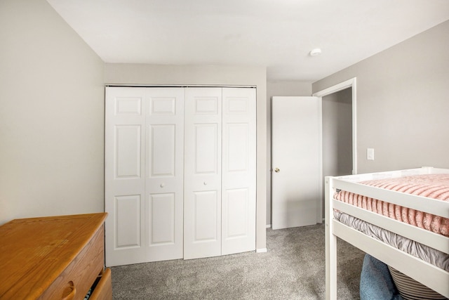
[[[255,89],[107,87],[106,264],[255,249]]]

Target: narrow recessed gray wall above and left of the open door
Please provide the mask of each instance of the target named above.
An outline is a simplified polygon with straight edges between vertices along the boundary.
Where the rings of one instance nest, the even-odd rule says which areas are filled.
[[[267,82],[267,227],[272,224],[272,97],[311,96],[311,82],[268,81]]]

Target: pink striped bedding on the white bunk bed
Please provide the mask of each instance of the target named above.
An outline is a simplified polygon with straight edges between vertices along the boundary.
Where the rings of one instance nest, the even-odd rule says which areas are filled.
[[[361,181],[366,185],[387,190],[396,190],[411,195],[420,195],[436,200],[449,201],[449,174],[426,174],[405,176],[399,178]],[[434,214],[400,207],[395,204],[376,200],[370,197],[356,195],[344,190],[335,193],[335,199],[353,204],[377,214],[388,216],[410,225],[418,226],[434,233],[449,236],[449,219]]]

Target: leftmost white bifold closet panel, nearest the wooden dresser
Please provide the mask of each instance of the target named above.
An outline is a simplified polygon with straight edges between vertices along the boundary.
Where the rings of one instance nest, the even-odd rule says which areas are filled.
[[[105,98],[106,265],[142,259],[145,89],[107,88]]]

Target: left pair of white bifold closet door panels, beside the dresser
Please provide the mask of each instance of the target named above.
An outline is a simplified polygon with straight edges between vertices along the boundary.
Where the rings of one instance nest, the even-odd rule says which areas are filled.
[[[182,258],[183,96],[106,89],[107,266]]]

